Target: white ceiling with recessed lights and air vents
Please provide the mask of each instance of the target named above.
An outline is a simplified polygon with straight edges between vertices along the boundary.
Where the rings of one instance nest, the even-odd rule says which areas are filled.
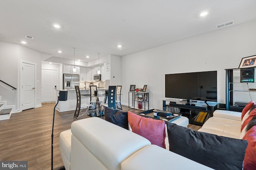
[[[74,59],[75,47],[76,59],[88,62],[98,53],[124,56],[217,31],[232,20],[226,27],[256,20],[256,0],[0,0],[0,41],[27,41],[66,59]]]

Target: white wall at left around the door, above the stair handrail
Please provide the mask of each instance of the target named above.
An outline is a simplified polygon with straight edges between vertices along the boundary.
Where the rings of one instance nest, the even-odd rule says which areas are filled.
[[[35,107],[41,106],[41,61],[48,54],[39,53],[22,45],[0,41],[0,79],[17,88],[12,91],[10,87],[0,83],[0,96],[7,105],[14,105],[16,111],[20,109],[20,64],[28,61],[36,64],[36,92]],[[14,111],[15,112],[15,111]]]

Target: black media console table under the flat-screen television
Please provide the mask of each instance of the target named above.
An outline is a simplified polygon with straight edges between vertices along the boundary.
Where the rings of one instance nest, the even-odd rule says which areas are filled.
[[[217,109],[217,102],[194,101],[187,103],[180,99],[165,99],[163,107],[168,107],[171,112],[181,113],[182,116],[188,117],[190,124],[202,126],[207,119],[213,116],[214,110]]]

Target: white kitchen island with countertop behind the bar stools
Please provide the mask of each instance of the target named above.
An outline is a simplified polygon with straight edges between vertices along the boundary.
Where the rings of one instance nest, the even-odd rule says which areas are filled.
[[[56,103],[58,102],[59,92],[61,91],[68,91],[68,100],[67,101],[59,101],[58,105],[56,106],[56,110],[59,112],[63,111],[71,111],[76,109],[76,90],[75,89],[57,89],[56,90]],[[98,88],[98,91],[103,91],[105,93],[105,88]],[[81,94],[81,104],[90,104],[90,88],[80,88]],[[84,96],[86,95],[86,96]],[[99,96],[101,101],[104,100],[104,96]],[[95,98],[92,98],[92,101],[96,101]]]

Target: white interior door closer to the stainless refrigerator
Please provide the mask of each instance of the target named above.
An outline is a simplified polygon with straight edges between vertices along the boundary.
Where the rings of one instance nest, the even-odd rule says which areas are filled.
[[[42,69],[42,102],[56,101],[57,70]]]

